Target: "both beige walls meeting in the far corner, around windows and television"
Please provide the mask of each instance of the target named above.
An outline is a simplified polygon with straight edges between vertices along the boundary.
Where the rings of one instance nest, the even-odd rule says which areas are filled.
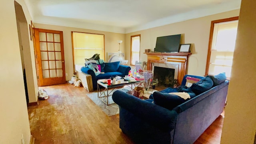
[[[203,76],[206,68],[206,58],[208,52],[208,42],[210,34],[210,24],[212,20],[222,18],[230,18],[239,15],[239,10],[232,10],[220,14],[214,14],[202,18],[186,20],[184,22],[177,22],[156,28],[150,28],[129,34],[119,34],[113,32],[104,32],[97,30],[88,30],[81,28],[72,28],[65,26],[55,26],[48,24],[35,24],[36,28],[43,28],[49,30],[63,31],[64,35],[64,54],[65,54],[65,69],[68,73],[66,80],[70,80],[73,76],[73,63],[72,63],[72,42],[71,31],[76,32],[89,32],[96,34],[105,34],[105,61],[107,60],[107,52],[117,52],[117,40],[123,40],[120,44],[120,50],[125,52],[125,59],[130,62],[130,36],[141,34],[141,52],[140,57],[142,61],[147,60],[146,54],[143,54],[145,49],[154,50],[156,45],[156,38],[158,36],[167,36],[173,34],[182,34],[181,44],[192,44],[192,55],[189,58],[188,74],[195,74]]]

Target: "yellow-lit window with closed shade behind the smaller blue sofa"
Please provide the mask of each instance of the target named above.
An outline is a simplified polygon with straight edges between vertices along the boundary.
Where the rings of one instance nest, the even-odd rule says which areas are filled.
[[[105,59],[104,34],[71,32],[71,35],[74,73],[76,66],[84,66],[84,58],[91,58],[94,54],[100,54],[100,59]]]

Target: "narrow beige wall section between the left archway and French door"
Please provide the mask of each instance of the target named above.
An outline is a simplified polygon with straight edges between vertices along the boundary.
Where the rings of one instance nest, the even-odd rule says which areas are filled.
[[[31,17],[23,0],[17,0],[15,6],[16,20],[19,32],[19,44],[22,60],[22,70],[26,69],[26,82],[28,86],[29,102],[38,100],[38,85],[36,80],[36,65],[34,57],[34,46],[30,40],[29,24]],[[22,56],[23,54],[23,56]]]

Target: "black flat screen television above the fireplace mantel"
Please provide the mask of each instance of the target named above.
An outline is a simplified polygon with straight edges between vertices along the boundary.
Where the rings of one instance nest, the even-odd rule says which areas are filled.
[[[180,37],[181,34],[157,37],[154,52],[178,52]]]

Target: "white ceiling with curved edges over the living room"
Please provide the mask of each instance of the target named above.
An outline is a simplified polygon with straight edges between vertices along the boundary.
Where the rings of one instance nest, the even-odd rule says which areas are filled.
[[[34,23],[129,33],[240,8],[241,0],[25,0]]]

